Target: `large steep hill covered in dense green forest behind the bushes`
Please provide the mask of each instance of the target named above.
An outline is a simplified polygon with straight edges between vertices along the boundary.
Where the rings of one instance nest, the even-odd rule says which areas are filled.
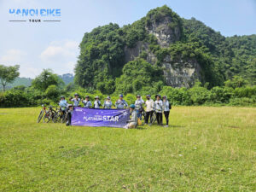
[[[171,38],[159,38],[164,35]],[[136,49],[138,44],[145,46]],[[137,51],[128,62],[127,50],[128,54],[129,50]],[[154,61],[148,55],[153,55]],[[170,61],[166,61],[168,57]],[[209,84],[210,89],[224,85],[234,76],[241,76],[253,85],[255,58],[256,35],[225,38],[201,21],[185,20],[163,6],[150,10],[131,25],[119,27],[110,23],[86,32],[80,44],[75,82],[106,94],[139,93],[148,90],[147,86],[151,90],[158,90],[160,85],[192,87],[197,80]],[[165,74],[168,73],[165,63],[182,68],[183,61],[198,65],[200,72],[187,85],[183,85],[183,80],[168,84],[167,79],[175,75]],[[147,69],[143,70],[145,66]],[[130,84],[125,83],[128,75],[132,77]]]

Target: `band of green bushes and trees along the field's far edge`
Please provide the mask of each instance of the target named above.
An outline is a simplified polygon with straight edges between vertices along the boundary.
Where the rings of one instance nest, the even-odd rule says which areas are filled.
[[[136,63],[132,64],[131,67],[136,67],[136,65]],[[154,78],[154,76],[151,77],[150,75],[152,73],[151,70],[157,73],[159,69],[148,69],[148,67],[148,64],[145,63],[145,66],[141,68],[143,73],[148,73],[144,78]],[[129,73],[125,75],[130,77]],[[122,81],[122,79],[119,79],[119,81]],[[160,81],[155,81],[149,85],[131,84],[129,81],[128,78],[122,81],[122,86],[125,86],[125,92],[122,92],[121,89],[110,95],[113,101],[118,99],[120,93],[125,93],[126,102],[133,103],[136,99],[136,94],[131,93],[130,89],[133,89],[133,86],[135,89],[143,86],[143,89],[136,91],[136,93],[143,97],[148,94],[151,96],[156,94],[166,95],[172,105],[256,106],[256,86],[250,85],[246,79],[242,79],[240,76],[234,76],[233,79],[225,81],[223,86],[214,86],[211,89],[209,89],[208,83],[201,84],[200,81],[197,81],[192,88],[173,88],[161,84]],[[42,104],[56,106],[60,96],[72,97],[75,93],[79,93],[79,96],[90,96],[90,98],[99,96],[102,101],[108,96],[93,87],[84,89],[74,83],[65,85],[52,70],[44,69],[38,77],[32,80],[31,86],[20,85],[0,92],[0,108],[37,107]]]

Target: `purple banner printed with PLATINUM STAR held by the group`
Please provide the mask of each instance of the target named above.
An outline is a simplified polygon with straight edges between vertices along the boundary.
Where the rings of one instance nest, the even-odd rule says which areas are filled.
[[[71,125],[111,126],[126,128],[129,109],[79,108],[73,109]]]

